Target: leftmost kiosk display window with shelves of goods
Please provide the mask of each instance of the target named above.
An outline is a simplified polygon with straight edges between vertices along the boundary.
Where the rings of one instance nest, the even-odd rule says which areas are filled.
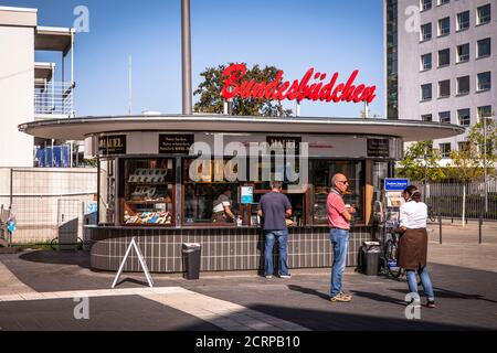
[[[123,220],[126,225],[175,223],[175,160],[123,159]]]

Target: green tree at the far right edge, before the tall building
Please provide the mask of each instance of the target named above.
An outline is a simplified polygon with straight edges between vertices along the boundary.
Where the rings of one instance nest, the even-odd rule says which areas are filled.
[[[483,119],[486,119],[484,124]],[[486,133],[484,133],[486,126]],[[485,157],[486,137],[486,157]],[[497,124],[489,117],[482,117],[480,121],[469,128],[467,141],[463,149],[451,153],[452,163],[448,165],[451,178],[463,182],[479,181],[485,175],[495,175],[497,163],[497,151],[495,141],[497,140]]]

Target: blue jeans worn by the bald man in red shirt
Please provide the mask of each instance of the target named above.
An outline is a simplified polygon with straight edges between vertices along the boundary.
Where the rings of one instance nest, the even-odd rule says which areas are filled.
[[[349,231],[331,228],[329,239],[334,247],[334,267],[331,269],[331,297],[341,291],[341,278],[347,259],[347,248],[349,247]]]

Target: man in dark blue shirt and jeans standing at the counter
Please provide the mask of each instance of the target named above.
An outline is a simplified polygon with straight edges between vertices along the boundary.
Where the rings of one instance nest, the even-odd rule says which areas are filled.
[[[288,229],[286,227],[286,216],[292,215],[292,204],[288,197],[282,194],[281,181],[272,183],[272,191],[261,197],[258,203],[257,214],[264,217],[264,235],[266,244],[264,247],[264,276],[269,279],[273,278],[273,247],[275,239],[279,245],[279,278],[290,278],[288,272],[288,265],[286,263],[287,252],[286,242],[288,237]]]

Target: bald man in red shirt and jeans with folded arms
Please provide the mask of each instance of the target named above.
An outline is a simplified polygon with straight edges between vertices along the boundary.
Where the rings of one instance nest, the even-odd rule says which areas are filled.
[[[341,290],[341,278],[346,267],[347,248],[349,246],[350,220],[356,210],[343,203],[342,194],[349,182],[347,176],[337,173],[331,179],[331,192],[328,194],[326,208],[330,227],[329,239],[334,248],[334,267],[331,269],[330,301],[350,301],[352,296]]]

